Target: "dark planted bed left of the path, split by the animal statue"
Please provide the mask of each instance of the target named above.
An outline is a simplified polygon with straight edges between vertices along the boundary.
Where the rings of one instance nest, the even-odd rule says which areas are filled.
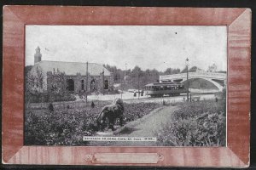
[[[94,107],[83,105],[79,108],[69,105],[49,111],[48,108],[29,109],[25,114],[26,145],[87,145],[83,136],[96,133],[96,117],[104,105]],[[67,105],[66,105],[67,106]],[[155,103],[124,104],[124,121],[131,122],[160,107]]]

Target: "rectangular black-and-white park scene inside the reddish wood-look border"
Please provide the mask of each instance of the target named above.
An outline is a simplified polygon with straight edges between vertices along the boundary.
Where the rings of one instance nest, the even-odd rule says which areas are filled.
[[[226,26],[26,25],[25,145],[226,146]]]

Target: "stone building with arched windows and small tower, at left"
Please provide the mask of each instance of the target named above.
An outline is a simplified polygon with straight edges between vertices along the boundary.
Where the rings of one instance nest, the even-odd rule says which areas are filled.
[[[78,94],[113,90],[113,73],[103,65],[42,60],[39,47],[29,74],[32,90],[39,93],[67,90]]]

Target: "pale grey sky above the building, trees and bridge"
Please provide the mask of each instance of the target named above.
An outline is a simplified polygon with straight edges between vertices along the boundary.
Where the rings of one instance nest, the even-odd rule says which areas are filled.
[[[35,49],[42,60],[136,65],[165,71],[217,65],[227,70],[226,26],[26,26],[26,65],[33,65]]]

